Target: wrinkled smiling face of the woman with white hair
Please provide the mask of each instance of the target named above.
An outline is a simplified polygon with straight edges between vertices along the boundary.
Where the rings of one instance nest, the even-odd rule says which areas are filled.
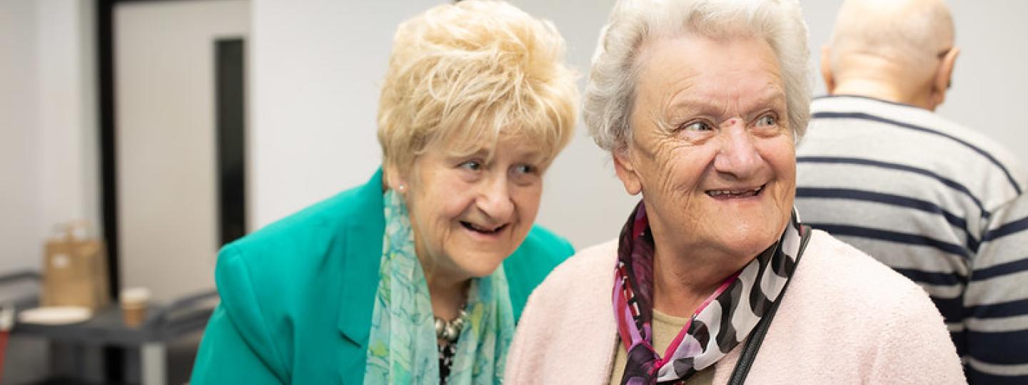
[[[774,52],[762,39],[694,35],[640,52],[633,138],[615,164],[642,193],[658,253],[756,256],[780,236],[796,191]]]

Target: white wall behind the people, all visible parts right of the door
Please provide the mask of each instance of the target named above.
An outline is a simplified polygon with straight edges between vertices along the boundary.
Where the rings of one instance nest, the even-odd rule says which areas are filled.
[[[396,25],[442,1],[253,3],[252,227],[364,182],[379,162],[377,89]],[[567,41],[568,62],[584,76],[614,0],[514,0],[552,20]],[[388,3],[388,4],[386,4]],[[812,60],[828,40],[841,0],[802,0]],[[1018,24],[1028,2],[953,4],[958,44],[954,88],[941,113],[1028,153],[1028,36]],[[823,84],[816,93],[823,93]],[[609,157],[581,125],[547,175],[538,222],[578,247],[617,236],[635,199],[614,177]]]

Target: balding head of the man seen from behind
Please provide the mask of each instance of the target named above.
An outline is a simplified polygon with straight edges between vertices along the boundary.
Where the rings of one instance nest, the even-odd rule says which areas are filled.
[[[847,0],[821,49],[821,75],[829,93],[934,110],[959,51],[943,0]]]

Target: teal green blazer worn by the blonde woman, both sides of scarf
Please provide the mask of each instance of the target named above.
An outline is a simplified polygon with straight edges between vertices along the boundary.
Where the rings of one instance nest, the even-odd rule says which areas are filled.
[[[193,384],[363,383],[386,227],[381,186],[379,170],[222,248],[221,304]],[[515,320],[531,290],[573,253],[534,227],[504,261]]]

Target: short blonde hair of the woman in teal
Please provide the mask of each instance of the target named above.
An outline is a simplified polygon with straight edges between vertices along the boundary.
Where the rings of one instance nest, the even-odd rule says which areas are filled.
[[[518,137],[548,164],[577,115],[563,53],[553,24],[503,1],[443,4],[402,23],[378,102],[384,163],[406,169],[436,141],[470,154],[482,141]]]

